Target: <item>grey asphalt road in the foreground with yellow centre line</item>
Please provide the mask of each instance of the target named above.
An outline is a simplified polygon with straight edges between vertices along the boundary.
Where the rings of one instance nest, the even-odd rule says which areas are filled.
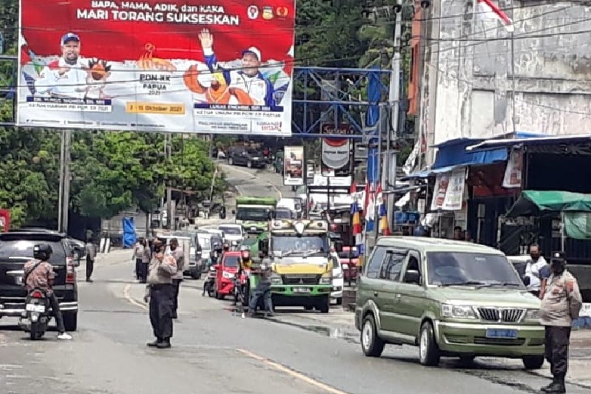
[[[480,370],[427,368],[416,351],[397,347],[368,359],[352,341],[242,318],[230,302],[202,297],[201,282],[190,280],[181,288],[173,348],[149,349],[144,286],[131,271],[129,251],[100,256],[95,282],[79,286],[72,341],[57,341],[54,332],[30,341],[9,325],[14,320],[2,320],[0,393],[504,394],[537,392],[545,383],[525,373],[515,383],[512,370],[492,379]]]

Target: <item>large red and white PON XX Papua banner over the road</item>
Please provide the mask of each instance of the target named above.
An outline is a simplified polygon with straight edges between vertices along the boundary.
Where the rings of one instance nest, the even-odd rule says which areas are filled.
[[[21,0],[19,126],[291,134],[294,0]]]

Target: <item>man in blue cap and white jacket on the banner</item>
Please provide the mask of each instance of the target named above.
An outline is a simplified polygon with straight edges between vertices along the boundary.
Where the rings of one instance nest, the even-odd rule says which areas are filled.
[[[80,37],[69,32],[61,37],[61,57],[51,61],[35,80],[35,89],[43,96],[73,97],[86,95],[88,64],[80,58]]]

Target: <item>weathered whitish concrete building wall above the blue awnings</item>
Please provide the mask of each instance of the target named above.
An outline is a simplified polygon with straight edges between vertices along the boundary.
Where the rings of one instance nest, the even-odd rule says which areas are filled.
[[[434,145],[453,139],[589,133],[591,7],[501,0],[511,34],[475,4],[416,6],[409,99],[426,145],[421,168],[433,164]]]

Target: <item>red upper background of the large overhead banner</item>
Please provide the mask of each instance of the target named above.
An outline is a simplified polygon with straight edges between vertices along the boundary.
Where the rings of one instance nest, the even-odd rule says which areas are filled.
[[[220,5],[225,14],[238,15],[238,26],[176,24],[170,22],[113,21],[77,19],[76,9],[90,9],[91,0],[21,0],[21,31],[28,47],[38,56],[60,53],[60,38],[66,32],[80,35],[83,57],[98,57],[108,61],[137,60],[145,53],[145,45],[155,45],[154,56],[167,59],[202,60],[203,53],[197,34],[207,28],[214,38],[213,48],[220,61],[242,56],[249,47],[261,50],[262,61],[285,60],[293,45],[294,0],[147,0],[156,4]],[[121,1],[116,1],[120,4]],[[250,19],[248,7],[258,7],[258,17]],[[263,9],[272,7],[273,17],[262,17]],[[278,7],[284,7],[277,12]],[[287,15],[284,9],[287,8]],[[100,8],[109,11],[108,8]],[[137,11],[122,9],[119,11]],[[109,11],[110,14],[110,11]]]

